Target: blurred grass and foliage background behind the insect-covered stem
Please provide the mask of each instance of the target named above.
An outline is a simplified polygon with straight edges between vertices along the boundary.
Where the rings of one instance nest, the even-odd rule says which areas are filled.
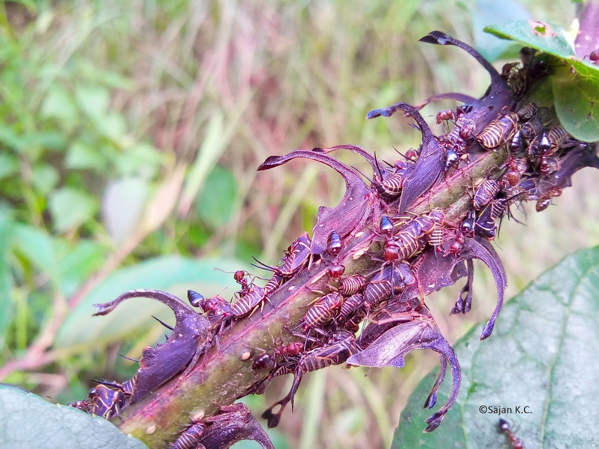
[[[140,300],[92,318],[90,304],[129,288],[217,293],[231,275],[213,266],[247,268],[251,256],[276,263],[311,230],[317,207],[343,195],[338,175],[310,161],[257,174],[266,157],[352,143],[394,160],[392,147],[418,145],[419,133],[401,117],[367,122],[367,111],[454,90],[482,95],[486,72],[461,50],[419,44],[429,31],[482,49],[492,45],[482,26],[525,18],[521,8],[564,28],[574,18],[567,1],[491,4],[3,3],[3,381],[65,403],[83,399],[96,375],[131,377],[135,364],[117,353],[138,357],[160,338],[150,313],[172,317]],[[525,207],[527,226],[503,223],[509,296],[565,254],[599,244],[599,199],[587,194],[597,174],[582,171],[574,184],[542,214]],[[476,269],[467,316],[447,316],[459,286],[428,299],[450,342],[494,307],[492,279]],[[308,375],[294,414],[272,433],[276,447],[388,446],[407,396],[436,363],[416,353],[404,369],[367,377],[339,367]],[[277,381],[265,398],[247,399],[257,414],[291,380]]]

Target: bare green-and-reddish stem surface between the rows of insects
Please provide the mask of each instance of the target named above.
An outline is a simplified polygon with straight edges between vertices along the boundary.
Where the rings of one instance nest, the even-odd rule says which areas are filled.
[[[473,182],[496,173],[503,160],[496,153],[481,154],[465,168],[459,168],[446,180],[438,182],[415,202],[412,211],[420,213],[439,207],[446,211],[447,223],[457,225],[471,205],[467,190]],[[397,211],[397,205],[393,204],[389,214],[393,213],[394,206]],[[382,262],[373,260],[367,253],[376,237],[370,229],[376,225],[369,223],[347,242],[344,251],[347,255],[340,261],[345,266],[345,274],[364,274],[380,268]],[[376,250],[377,245],[371,249]],[[257,311],[250,318],[236,321],[230,330],[225,329],[219,335],[218,343],[195,367],[125,408],[120,428],[150,448],[164,448],[177,438],[184,425],[189,424],[190,416],[210,416],[220,406],[232,404],[265,376],[264,372],[252,370],[253,359],[261,353],[257,348],[266,350],[301,341],[301,337],[293,332],[307,306],[323,293],[333,291],[337,284],[337,281],[329,280],[322,261],[313,263],[273,293],[271,304],[266,304],[262,313]]]

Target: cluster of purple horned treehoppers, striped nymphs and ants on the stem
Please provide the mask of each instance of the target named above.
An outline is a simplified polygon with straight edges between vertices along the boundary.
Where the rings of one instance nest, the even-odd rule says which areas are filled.
[[[263,393],[274,377],[293,374],[289,394],[262,414],[268,427],[274,427],[286,404],[293,405],[303,374],[344,362],[347,366],[401,367],[407,353],[427,348],[440,354],[441,369],[425,401],[426,407],[435,405],[448,364],[452,374],[449,399],[426,420],[427,432],[439,426],[458,395],[461,372],[456,354],[441,335],[424,297],[467,277],[451,311],[467,313],[473,295],[473,259],[482,260],[494,276],[498,293],[497,306],[481,335],[481,339],[488,338],[507,285],[503,265],[491,245],[501,218],[504,214],[510,216],[510,205],[516,201],[534,200],[537,210],[543,210],[564,187],[571,185],[574,172],[584,166],[599,168],[599,158],[593,145],[577,141],[552,123],[550,108],[527,101],[529,87],[551,72],[534,51],[524,48],[521,66],[507,64],[498,72],[474,48],[446,34],[431,32],[421,41],[456,45],[475,57],[491,76],[485,95],[477,99],[462,93],[444,93],[424,102],[453,99],[463,103],[455,110],[437,114],[437,123],[444,123],[447,129],[441,136],[431,132],[418,107],[406,103],[368,113],[368,119],[372,119],[404,111],[422,132],[418,150],[410,150],[393,164],[379,161],[355,145],[297,150],[285,156],[268,157],[258,170],[274,168],[297,157],[334,168],[346,183],[340,204],[334,208],[320,207],[312,238],[302,233],[289,246],[279,266],[262,267],[273,273],[264,287],[253,284],[255,278],[246,272],[235,272],[234,278],[241,285],[235,302],[220,296],[206,299],[190,291],[190,305],[201,308],[198,313],[168,293],[134,290],[97,305],[98,314],[103,315],[127,298],[155,298],[173,309],[177,322],[174,327],[163,323],[173,333],[164,344],[144,349],[140,368],[132,380],[123,384],[102,381],[90,391],[86,401],[75,406],[106,418],[118,415],[123,406],[135,404],[181,371],[192,369],[213,342],[218,344],[219,336],[226,338],[223,331],[229,324],[264,306],[274,292],[284,289],[284,284],[289,286],[299,275],[311,276],[316,266],[322,268],[320,277],[328,277],[329,292],[322,292],[305,308],[297,327],[289,326],[291,342],[273,342],[273,347],[267,350],[244,353],[241,360],[251,366],[258,379],[240,392],[239,397]],[[364,157],[373,169],[372,177],[329,156],[335,150],[353,151]],[[468,169],[488,160],[489,155],[501,158],[503,164],[491,170],[483,181],[473,185],[468,179],[462,183],[468,186],[470,207],[458,216],[434,207],[426,210],[426,198],[431,191],[442,190],[444,183],[456,184],[454,181],[460,177],[464,181]],[[369,261],[364,265],[368,266],[367,271],[346,271],[344,265],[352,261],[352,266],[356,266],[353,262],[356,259]],[[361,324],[362,330],[356,336]],[[238,405],[231,407],[235,406]],[[229,412],[225,408],[221,411],[223,415]],[[206,436],[228,422],[211,418],[193,420],[172,447],[228,447],[222,442],[220,446],[213,445]],[[257,423],[252,421],[247,429],[250,430],[246,430],[243,438],[253,438],[264,447],[271,447]],[[241,438],[240,435],[235,438]]]

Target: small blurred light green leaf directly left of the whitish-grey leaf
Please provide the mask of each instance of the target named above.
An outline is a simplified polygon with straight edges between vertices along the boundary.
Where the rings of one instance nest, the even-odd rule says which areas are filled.
[[[98,203],[87,193],[63,187],[52,192],[49,208],[54,229],[57,232],[66,232],[93,217],[98,209]]]

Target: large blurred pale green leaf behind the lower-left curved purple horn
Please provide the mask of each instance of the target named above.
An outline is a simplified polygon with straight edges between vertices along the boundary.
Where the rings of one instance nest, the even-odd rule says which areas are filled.
[[[150,315],[174,323],[170,309],[151,299],[129,299],[104,317],[92,317],[93,304],[111,301],[134,289],[165,290],[186,301],[187,289],[212,296],[229,287],[238,290],[231,274],[214,268],[234,271],[247,268],[241,262],[226,259],[193,260],[179,256],[163,256],[146,260],[114,272],[71,311],[59,329],[55,348],[97,346],[99,342],[116,341],[137,329],[147,329],[155,321]]]

